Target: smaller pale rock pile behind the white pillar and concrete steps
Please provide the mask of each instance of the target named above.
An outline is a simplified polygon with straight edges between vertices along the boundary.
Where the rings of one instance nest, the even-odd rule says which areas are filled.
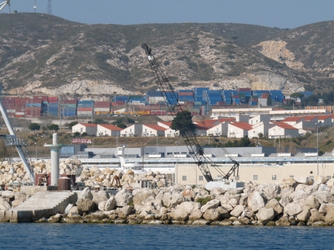
[[[51,160],[38,160],[31,166],[35,174],[50,174]],[[125,174],[122,172],[106,167],[101,170],[99,167],[83,167],[78,159],[61,160],[59,163],[59,174],[75,174],[79,176],[77,182],[84,182],[88,187],[100,185],[111,187],[114,176],[120,178],[120,184],[124,188],[131,187],[136,181],[149,180],[157,183],[157,187],[164,187],[170,180],[165,174],[159,172],[148,172],[147,174],[134,174],[132,170],[127,170]],[[11,165],[8,161],[0,163],[0,185],[5,185],[13,181],[29,181],[22,162]],[[113,183],[115,184],[115,182]]]

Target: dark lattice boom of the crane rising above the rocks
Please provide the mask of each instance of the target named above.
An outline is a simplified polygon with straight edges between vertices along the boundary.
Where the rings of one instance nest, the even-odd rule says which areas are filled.
[[[142,44],[142,47],[145,49],[145,53],[148,56],[148,62],[150,63],[152,73],[154,74],[155,82],[164,96],[170,114],[174,119],[177,119],[177,123],[181,122],[179,121],[180,118],[177,117],[178,113],[181,113],[183,115],[182,119],[186,121],[186,117],[184,116],[180,103],[177,101],[173,87],[170,85],[168,78],[165,76],[157,61],[154,59],[151,49],[146,44]],[[184,124],[184,129],[182,129],[182,131],[180,130],[180,135],[182,135],[184,143],[189,149],[189,153],[193,157],[193,160],[195,160],[196,165],[198,165],[198,168],[202,172],[205,180],[207,182],[213,181],[211,172],[209,171],[209,166],[207,165],[210,160],[207,158],[207,156],[205,156],[202,147],[200,147],[200,144],[198,143],[198,140],[196,139],[196,136],[191,129],[190,124],[188,122],[185,122]]]

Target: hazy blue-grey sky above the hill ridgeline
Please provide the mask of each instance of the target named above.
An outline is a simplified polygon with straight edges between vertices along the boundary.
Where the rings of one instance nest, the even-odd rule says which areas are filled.
[[[11,0],[11,10],[47,11],[47,0]],[[2,0],[0,0],[2,2]],[[51,0],[52,12],[86,24],[232,22],[294,28],[334,19],[334,0]],[[8,12],[6,7],[3,12]]]

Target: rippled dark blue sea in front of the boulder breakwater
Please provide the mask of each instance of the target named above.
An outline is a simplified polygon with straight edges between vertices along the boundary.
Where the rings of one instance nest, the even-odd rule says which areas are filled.
[[[334,249],[334,227],[0,223],[0,249]]]

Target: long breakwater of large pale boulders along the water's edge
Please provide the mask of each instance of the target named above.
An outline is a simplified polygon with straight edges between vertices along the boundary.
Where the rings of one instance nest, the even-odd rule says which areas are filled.
[[[77,206],[49,222],[128,224],[327,226],[334,224],[334,180],[317,176],[284,179],[279,184],[210,192],[169,186],[121,190],[114,197],[85,189]]]

